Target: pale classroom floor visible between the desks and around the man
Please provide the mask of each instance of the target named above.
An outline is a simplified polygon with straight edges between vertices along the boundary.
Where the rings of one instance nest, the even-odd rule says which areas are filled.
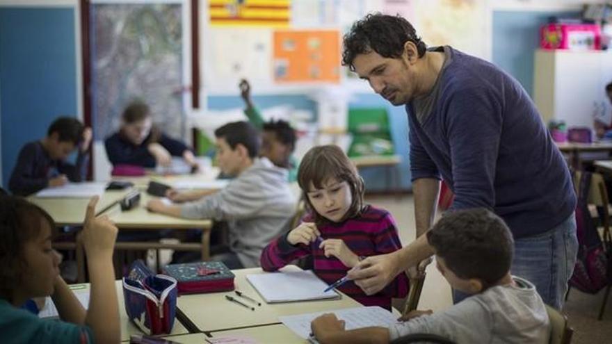
[[[414,240],[414,208],[412,195],[368,196],[366,202],[384,208],[394,216],[403,245]],[[612,343],[612,295],[609,297],[604,320],[597,321],[604,290],[597,295],[588,295],[572,290],[565,304],[564,313],[574,328],[572,344]],[[430,264],[419,309],[441,311],[451,306],[451,288],[440,272]]]

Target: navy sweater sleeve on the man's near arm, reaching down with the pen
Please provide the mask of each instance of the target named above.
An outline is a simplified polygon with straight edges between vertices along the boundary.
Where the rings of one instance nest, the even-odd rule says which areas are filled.
[[[465,88],[449,97],[444,118],[453,172],[453,209],[495,204],[495,172],[503,125],[502,106],[486,88]]]

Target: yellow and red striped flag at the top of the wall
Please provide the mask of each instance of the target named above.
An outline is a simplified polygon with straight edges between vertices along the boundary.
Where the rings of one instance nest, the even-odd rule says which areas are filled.
[[[212,26],[287,27],[290,0],[210,0]]]

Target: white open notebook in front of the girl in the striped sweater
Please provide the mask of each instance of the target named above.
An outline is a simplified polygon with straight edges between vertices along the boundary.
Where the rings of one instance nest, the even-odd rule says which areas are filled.
[[[335,290],[323,293],[328,285],[321,281],[319,277],[316,277],[312,270],[268,272],[247,275],[246,279],[257,290],[257,293],[270,304],[340,298]]]

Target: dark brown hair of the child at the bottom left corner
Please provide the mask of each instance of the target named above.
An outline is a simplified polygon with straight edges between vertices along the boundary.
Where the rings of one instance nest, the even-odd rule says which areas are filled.
[[[15,196],[0,196],[0,297],[12,302],[26,270],[24,245],[40,235],[46,221],[54,231],[49,214],[35,204]]]

